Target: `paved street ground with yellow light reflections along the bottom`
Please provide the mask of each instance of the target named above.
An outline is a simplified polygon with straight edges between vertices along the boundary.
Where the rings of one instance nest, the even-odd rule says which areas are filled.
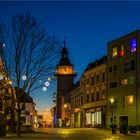
[[[21,138],[16,134],[8,133],[0,140],[140,140],[140,131],[136,134],[112,134],[110,129],[96,128],[45,128],[39,129],[40,132],[24,133]],[[38,130],[38,131],[39,131]],[[42,132],[41,132],[42,130]]]

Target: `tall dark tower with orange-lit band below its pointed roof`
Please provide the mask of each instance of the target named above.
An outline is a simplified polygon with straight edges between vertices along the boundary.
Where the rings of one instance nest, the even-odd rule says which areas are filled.
[[[57,77],[57,121],[62,121],[64,104],[70,101],[69,91],[72,90],[74,85],[74,77],[77,75],[74,72],[73,65],[71,64],[71,61],[68,57],[68,50],[66,48],[65,41],[64,47],[61,51],[61,58],[59,64],[57,65],[57,73],[55,75]]]

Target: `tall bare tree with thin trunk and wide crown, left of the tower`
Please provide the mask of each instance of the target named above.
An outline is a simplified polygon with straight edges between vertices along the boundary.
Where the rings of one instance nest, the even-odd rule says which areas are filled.
[[[53,73],[58,61],[60,43],[55,36],[50,36],[41,23],[25,11],[23,15],[11,16],[7,26],[7,37],[1,57],[13,85],[17,89],[17,136],[20,137],[20,95],[33,92],[43,85]],[[22,76],[25,79],[22,80]]]

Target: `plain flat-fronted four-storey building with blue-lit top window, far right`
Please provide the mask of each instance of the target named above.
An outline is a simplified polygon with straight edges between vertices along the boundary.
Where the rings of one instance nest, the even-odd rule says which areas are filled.
[[[108,43],[107,124],[140,125],[140,30]]]

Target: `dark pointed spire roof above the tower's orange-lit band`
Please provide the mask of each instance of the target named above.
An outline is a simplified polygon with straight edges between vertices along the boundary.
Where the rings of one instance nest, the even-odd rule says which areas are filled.
[[[68,57],[68,50],[66,48],[65,41],[64,41],[64,47],[62,48],[62,51],[61,51],[61,58],[60,58],[58,66],[72,66],[71,61]]]

